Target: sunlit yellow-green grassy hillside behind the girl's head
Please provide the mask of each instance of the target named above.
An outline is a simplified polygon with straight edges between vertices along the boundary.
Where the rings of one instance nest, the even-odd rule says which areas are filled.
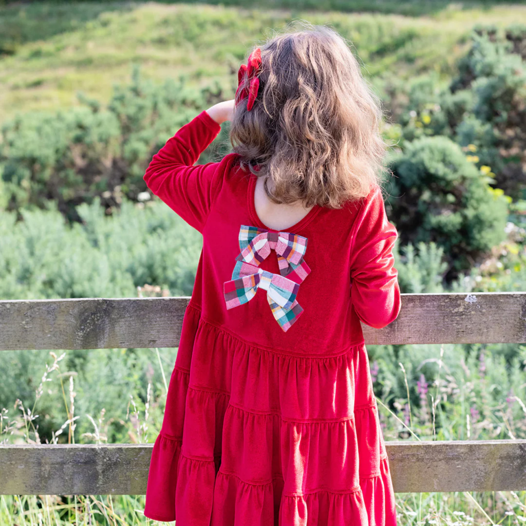
[[[342,2],[342,8],[348,4]],[[286,3],[258,4],[265,5]],[[144,75],[154,79],[184,74],[196,86],[214,78],[233,89],[233,73],[247,48],[268,36],[269,28],[298,18],[334,26],[356,46],[367,75],[378,82],[430,70],[447,75],[473,26],[526,23],[526,6],[474,5],[437,7],[418,18],[200,4],[7,5],[0,7],[0,122],[17,112],[76,105],[79,90],[106,102],[112,85],[129,79],[131,63],[141,64]]]

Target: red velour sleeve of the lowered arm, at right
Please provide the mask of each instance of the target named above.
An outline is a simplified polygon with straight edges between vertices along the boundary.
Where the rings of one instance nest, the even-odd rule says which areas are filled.
[[[401,303],[392,254],[397,231],[387,220],[379,187],[363,201],[353,231],[351,301],[363,323],[380,329],[397,318]]]

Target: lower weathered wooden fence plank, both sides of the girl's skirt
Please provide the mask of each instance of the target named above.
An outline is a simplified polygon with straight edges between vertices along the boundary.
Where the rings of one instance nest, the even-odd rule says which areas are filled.
[[[146,491],[151,444],[0,446],[0,494]],[[526,440],[387,442],[397,493],[526,490]]]

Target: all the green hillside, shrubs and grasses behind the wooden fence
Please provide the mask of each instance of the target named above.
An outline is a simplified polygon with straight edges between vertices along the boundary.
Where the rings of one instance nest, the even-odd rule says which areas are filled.
[[[190,295],[201,237],[144,170],[296,19],[347,38],[382,98],[402,290],[526,290],[526,5],[0,1],[0,299]],[[200,162],[228,153],[227,132]],[[0,441],[153,441],[176,352],[3,352]],[[386,440],[526,438],[526,346],[369,353]],[[0,523],[143,524],[143,506],[1,497]],[[523,524],[526,493],[397,495],[397,511]]]

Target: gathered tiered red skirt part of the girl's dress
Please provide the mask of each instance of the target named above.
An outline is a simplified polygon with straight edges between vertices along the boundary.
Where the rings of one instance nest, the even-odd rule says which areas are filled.
[[[177,526],[395,526],[365,346],[255,347],[187,308],[145,515]]]

